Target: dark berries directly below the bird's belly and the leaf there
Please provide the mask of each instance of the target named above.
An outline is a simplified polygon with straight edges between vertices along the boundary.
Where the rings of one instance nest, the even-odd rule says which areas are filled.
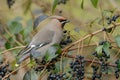
[[[34,68],[35,71],[42,71],[44,67],[46,66],[47,71],[55,70],[55,62],[59,61],[60,56],[57,56],[56,58],[53,58],[48,65],[46,65],[48,62],[45,60],[45,58],[42,59],[41,62],[39,62],[37,59],[35,60],[37,63],[37,66]]]

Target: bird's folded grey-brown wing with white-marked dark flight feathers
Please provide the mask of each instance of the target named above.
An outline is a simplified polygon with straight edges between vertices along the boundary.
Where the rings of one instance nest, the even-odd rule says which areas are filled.
[[[34,48],[35,49],[41,48],[41,47],[51,43],[52,38],[54,36],[54,32],[48,30],[48,31],[46,31],[46,34],[43,33],[42,36],[40,35],[41,33],[42,33],[42,31],[37,33],[35,35],[35,37],[33,37],[33,40],[31,41],[31,43],[18,53],[18,56],[23,56],[27,53],[30,53],[31,50]]]

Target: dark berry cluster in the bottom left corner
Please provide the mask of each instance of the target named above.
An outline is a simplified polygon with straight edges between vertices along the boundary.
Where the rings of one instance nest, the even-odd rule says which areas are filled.
[[[0,80],[7,75],[8,73],[11,72],[11,70],[8,69],[9,64],[4,64],[3,62],[0,62]],[[10,80],[9,77],[7,77],[7,80]]]

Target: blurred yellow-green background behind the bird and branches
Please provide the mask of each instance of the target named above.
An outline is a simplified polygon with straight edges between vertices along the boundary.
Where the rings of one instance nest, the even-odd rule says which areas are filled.
[[[33,25],[38,16],[45,14],[66,17],[70,23],[66,24],[65,30],[70,31],[72,41],[75,42],[87,34],[108,27],[110,25],[108,18],[120,15],[120,0],[98,0],[98,3],[92,3],[93,0],[59,0],[58,4],[55,4],[55,1],[0,0],[0,60],[12,64],[13,70],[16,69],[14,64],[17,53],[31,41],[35,34]],[[120,22],[120,19],[116,22]],[[120,29],[117,28],[110,36],[111,39],[119,34],[119,31]],[[98,44],[102,40],[105,40],[104,33],[93,36],[89,44]],[[83,44],[88,42],[89,39]],[[12,50],[7,51],[8,49]],[[91,52],[94,49],[94,46],[84,48],[80,54],[91,59],[93,58]],[[113,52],[115,53],[116,50]],[[28,67],[20,69],[11,80],[22,80],[28,69]],[[106,80],[114,80],[114,77],[110,78],[113,79]]]

